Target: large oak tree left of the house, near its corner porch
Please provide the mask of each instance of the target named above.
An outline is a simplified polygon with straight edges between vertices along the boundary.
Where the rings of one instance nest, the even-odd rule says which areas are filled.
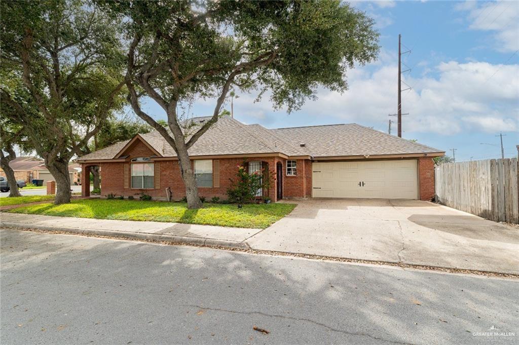
[[[19,109],[10,120],[24,128],[56,180],[54,203],[70,202],[69,161],[121,103],[117,27],[84,1],[3,1],[0,6],[2,103]],[[5,80],[20,81],[23,96]]]

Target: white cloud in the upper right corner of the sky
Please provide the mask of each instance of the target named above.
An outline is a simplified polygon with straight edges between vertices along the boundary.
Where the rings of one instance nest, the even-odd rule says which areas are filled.
[[[469,29],[493,33],[494,49],[512,52],[519,49],[519,2],[465,2],[456,7],[468,12]]]

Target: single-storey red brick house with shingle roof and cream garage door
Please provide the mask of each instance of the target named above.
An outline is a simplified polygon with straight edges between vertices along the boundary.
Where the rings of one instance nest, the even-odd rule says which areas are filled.
[[[194,118],[200,126],[208,117]],[[192,131],[196,128],[192,129]],[[249,172],[266,169],[272,201],[282,198],[434,197],[433,157],[444,152],[351,123],[266,129],[222,117],[189,149],[199,195],[226,198],[237,166],[248,160]],[[86,171],[101,167],[102,195],[140,193],[166,199],[185,196],[173,148],[158,132],[138,134],[77,160]],[[81,177],[89,195],[88,174]]]

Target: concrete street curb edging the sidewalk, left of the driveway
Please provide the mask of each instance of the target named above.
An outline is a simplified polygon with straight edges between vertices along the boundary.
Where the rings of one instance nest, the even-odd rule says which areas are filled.
[[[38,229],[45,231],[68,231],[79,234],[90,234],[97,236],[110,236],[120,238],[134,238],[153,242],[176,242],[195,244],[201,246],[212,246],[212,247],[224,247],[224,248],[236,248],[236,249],[249,249],[249,246],[245,242],[218,240],[218,239],[206,239],[199,237],[188,237],[188,236],[177,236],[168,234],[157,234],[148,232],[133,232],[133,231],[118,231],[118,230],[103,230],[103,229],[88,229],[88,228],[71,228],[63,226],[50,226],[50,225],[38,225],[29,223],[15,223],[15,222],[4,222],[0,221],[0,227],[14,227],[22,229]]]

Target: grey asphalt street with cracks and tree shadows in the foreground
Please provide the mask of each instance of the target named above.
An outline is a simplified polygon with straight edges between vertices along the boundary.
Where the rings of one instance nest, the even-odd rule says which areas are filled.
[[[2,344],[519,340],[518,280],[10,229],[0,240]]]

